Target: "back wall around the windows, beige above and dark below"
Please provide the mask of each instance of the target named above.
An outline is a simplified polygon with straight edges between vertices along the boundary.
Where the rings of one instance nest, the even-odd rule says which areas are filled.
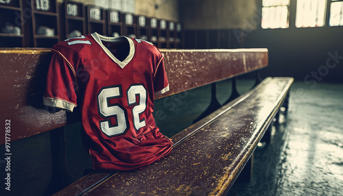
[[[264,77],[292,76],[310,87],[318,82],[343,82],[343,27],[297,28],[296,0],[290,2],[289,28],[261,29],[261,0],[182,1],[186,47],[265,47],[269,66],[262,72]],[[229,38],[222,38],[227,29],[231,33],[224,36]]]

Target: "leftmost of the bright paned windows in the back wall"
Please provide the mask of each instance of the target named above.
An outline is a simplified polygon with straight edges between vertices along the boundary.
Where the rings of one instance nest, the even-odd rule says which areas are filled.
[[[288,27],[289,0],[263,0],[262,5],[263,29]]]

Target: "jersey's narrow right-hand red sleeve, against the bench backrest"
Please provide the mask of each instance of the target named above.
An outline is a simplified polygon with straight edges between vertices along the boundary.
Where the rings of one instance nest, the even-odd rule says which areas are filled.
[[[169,82],[167,79],[167,74],[165,73],[165,64],[163,61],[163,56],[161,56],[160,61],[156,66],[156,71],[154,74],[154,92],[155,95],[161,95],[169,90]]]

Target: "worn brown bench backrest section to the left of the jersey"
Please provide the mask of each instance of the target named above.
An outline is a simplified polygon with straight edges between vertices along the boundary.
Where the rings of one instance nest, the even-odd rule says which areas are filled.
[[[64,112],[50,114],[42,103],[49,61],[49,49],[0,49],[0,121],[10,120],[11,141],[66,124]]]

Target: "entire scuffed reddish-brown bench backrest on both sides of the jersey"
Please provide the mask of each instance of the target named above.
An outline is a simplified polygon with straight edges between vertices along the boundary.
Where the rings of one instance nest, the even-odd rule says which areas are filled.
[[[170,90],[156,99],[268,66],[267,49],[161,49]],[[11,141],[78,121],[78,115],[49,111],[43,93],[50,49],[0,49],[0,122],[11,123]],[[54,113],[53,113],[54,112]],[[0,145],[5,134],[0,136]]]

